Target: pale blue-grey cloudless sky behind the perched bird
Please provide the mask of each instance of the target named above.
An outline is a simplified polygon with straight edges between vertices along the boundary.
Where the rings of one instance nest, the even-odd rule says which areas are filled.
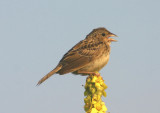
[[[119,37],[101,70],[111,113],[160,113],[160,0],[0,0],[0,113],[84,113],[86,77],[54,75],[97,27]]]

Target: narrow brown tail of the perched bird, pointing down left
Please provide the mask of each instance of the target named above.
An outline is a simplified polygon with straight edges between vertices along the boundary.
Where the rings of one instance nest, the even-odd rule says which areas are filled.
[[[44,82],[50,76],[52,76],[53,74],[55,74],[56,72],[58,72],[61,68],[62,68],[62,65],[58,65],[55,69],[53,69],[47,75],[45,75],[43,78],[41,78],[41,80],[39,80],[39,82],[37,83],[37,85],[40,85],[42,82]]]

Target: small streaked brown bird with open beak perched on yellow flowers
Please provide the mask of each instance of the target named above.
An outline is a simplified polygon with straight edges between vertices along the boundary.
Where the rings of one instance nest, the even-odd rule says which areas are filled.
[[[84,40],[81,40],[64,54],[58,65],[41,78],[37,85],[43,83],[53,74],[96,74],[108,63],[111,42],[117,41],[110,37],[117,37],[117,35],[104,27],[93,29]]]

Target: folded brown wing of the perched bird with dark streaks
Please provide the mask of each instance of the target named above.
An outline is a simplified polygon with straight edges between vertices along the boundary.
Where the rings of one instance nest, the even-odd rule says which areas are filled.
[[[63,66],[58,73],[65,74],[74,72],[84,67],[98,56],[99,50],[102,46],[103,42],[96,43],[93,40],[80,41],[64,55],[60,61],[60,64]]]

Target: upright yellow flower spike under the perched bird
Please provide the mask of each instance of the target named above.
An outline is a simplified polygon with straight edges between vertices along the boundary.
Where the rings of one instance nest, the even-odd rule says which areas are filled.
[[[90,75],[86,79],[84,109],[86,113],[106,113],[107,108],[101,97],[106,97],[107,86],[101,76]]]

